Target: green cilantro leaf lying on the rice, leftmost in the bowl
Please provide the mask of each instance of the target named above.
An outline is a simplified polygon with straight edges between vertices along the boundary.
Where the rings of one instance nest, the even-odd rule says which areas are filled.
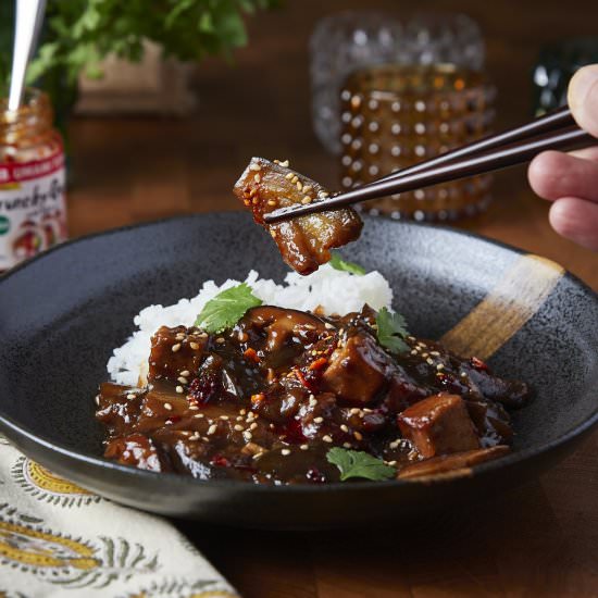
[[[247,283],[223,290],[203,306],[195,325],[208,333],[220,333],[234,326],[250,308],[261,306]]]

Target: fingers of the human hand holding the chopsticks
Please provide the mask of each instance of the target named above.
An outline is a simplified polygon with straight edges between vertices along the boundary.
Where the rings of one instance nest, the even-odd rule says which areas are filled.
[[[568,100],[577,124],[598,137],[598,64],[575,73]],[[598,146],[571,153],[545,151],[532,161],[527,177],[536,194],[552,201],[552,228],[598,251]]]

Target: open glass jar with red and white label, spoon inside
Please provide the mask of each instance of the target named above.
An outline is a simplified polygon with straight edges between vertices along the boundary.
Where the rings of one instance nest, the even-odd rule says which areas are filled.
[[[62,138],[46,94],[0,99],[0,272],[66,239]]]

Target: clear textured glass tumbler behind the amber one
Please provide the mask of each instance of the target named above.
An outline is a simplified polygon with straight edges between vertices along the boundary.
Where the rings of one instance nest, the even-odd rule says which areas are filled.
[[[484,40],[463,14],[420,14],[409,21],[377,12],[344,12],[317,22],[310,40],[313,127],[322,145],[340,153],[338,94],[346,77],[383,63],[451,63],[481,70]]]

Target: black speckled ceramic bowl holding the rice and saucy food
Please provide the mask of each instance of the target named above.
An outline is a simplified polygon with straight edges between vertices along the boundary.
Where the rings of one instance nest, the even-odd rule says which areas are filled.
[[[370,219],[346,253],[390,281],[396,308],[419,336],[439,338],[497,289],[500,301],[519,306],[509,273],[522,254],[472,235]],[[563,274],[490,359],[497,373],[528,382],[536,398],[514,414],[513,452],[471,475],[269,487],[102,459],[94,396],[133,316],[251,267],[275,279],[286,272],[269,236],[248,215],[228,213],[87,237],[12,271],[0,279],[0,429],[55,473],[133,507],[231,525],[322,528],[466,506],[536,476],[598,420],[598,298]]]

